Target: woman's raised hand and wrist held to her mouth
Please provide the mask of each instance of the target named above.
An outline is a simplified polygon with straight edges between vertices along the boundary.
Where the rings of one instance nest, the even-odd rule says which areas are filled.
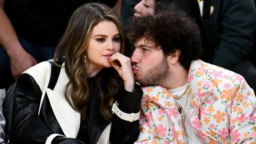
[[[111,65],[117,70],[118,74],[123,78],[124,89],[132,92],[134,90],[134,77],[130,58],[117,52],[110,57],[108,62],[111,63]]]

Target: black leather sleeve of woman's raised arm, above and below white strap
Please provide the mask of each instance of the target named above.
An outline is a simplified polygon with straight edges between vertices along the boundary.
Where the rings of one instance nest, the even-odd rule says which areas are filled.
[[[123,89],[116,95],[116,100],[119,103],[118,108],[125,113],[138,113],[142,95],[143,91],[138,84],[135,84],[133,92]],[[109,136],[110,142],[113,144],[132,144],[137,140],[138,136],[139,120],[129,122],[114,114]]]

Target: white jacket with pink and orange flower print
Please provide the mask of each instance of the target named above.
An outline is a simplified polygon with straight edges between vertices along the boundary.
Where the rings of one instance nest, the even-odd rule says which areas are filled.
[[[256,143],[256,98],[244,78],[196,60],[188,76],[187,112],[199,138],[211,143]],[[173,96],[162,86],[143,87],[140,136],[136,144],[187,142]]]

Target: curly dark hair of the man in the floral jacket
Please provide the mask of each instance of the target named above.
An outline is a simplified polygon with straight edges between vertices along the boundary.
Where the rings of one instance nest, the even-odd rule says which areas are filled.
[[[179,50],[180,65],[188,70],[192,60],[198,60],[203,52],[199,27],[175,5],[169,7],[168,11],[133,20],[127,37],[132,42],[141,37],[152,40],[165,56]]]

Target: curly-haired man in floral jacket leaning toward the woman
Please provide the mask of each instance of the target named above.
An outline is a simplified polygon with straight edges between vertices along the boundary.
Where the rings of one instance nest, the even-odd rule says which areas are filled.
[[[256,98],[244,78],[199,60],[198,26],[182,11],[134,20],[129,39],[145,86],[135,143],[256,143]]]

